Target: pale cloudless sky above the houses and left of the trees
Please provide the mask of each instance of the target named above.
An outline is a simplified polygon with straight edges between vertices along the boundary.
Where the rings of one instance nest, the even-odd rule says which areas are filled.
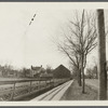
[[[62,27],[72,16],[71,5],[0,2],[0,13],[1,65],[69,67],[68,58],[58,52],[53,37],[59,37]]]

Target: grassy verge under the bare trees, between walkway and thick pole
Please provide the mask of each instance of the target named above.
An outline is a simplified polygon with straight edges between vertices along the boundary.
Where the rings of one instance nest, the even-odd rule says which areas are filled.
[[[75,80],[62,97],[62,100],[97,100],[97,91],[85,85],[85,94],[82,94],[82,87]]]

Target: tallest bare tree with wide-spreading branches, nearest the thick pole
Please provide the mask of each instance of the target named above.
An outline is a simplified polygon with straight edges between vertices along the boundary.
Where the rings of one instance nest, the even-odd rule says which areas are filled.
[[[68,27],[70,33],[64,33],[64,41],[57,43],[57,46],[69,57],[72,65],[79,67],[79,70],[81,69],[82,93],[84,93],[86,56],[97,45],[95,18],[83,10],[81,16],[77,14],[76,19],[69,23],[70,25]]]

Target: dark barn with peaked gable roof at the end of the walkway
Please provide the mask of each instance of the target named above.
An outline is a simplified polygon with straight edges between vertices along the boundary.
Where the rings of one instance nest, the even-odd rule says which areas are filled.
[[[59,65],[56,69],[53,70],[54,78],[70,78],[70,70],[67,69],[65,66]]]

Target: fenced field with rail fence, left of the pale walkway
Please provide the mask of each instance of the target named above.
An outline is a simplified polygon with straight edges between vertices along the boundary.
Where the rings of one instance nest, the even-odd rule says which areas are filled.
[[[0,100],[17,100],[62,84],[69,79],[30,79],[0,81]]]

